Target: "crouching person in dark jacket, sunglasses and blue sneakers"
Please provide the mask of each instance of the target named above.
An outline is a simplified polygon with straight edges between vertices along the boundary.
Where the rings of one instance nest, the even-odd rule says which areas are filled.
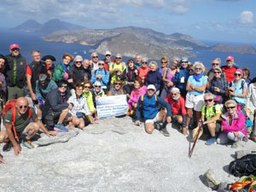
[[[72,120],[72,115],[68,113],[68,110],[72,108],[72,104],[67,102],[67,84],[66,79],[60,80],[58,88],[51,90],[44,102],[43,119],[49,130],[68,131],[63,125],[64,121]],[[55,119],[58,119],[57,124],[54,124]]]

